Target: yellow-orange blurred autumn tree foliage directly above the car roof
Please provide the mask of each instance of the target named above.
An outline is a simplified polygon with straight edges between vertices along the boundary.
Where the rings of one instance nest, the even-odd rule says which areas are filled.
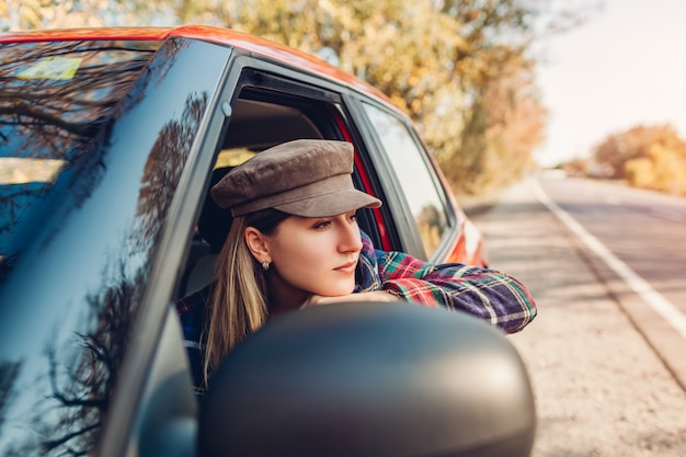
[[[379,88],[418,125],[455,192],[475,194],[535,167],[547,113],[529,49],[548,3],[7,0],[0,30],[10,16],[19,28],[203,23],[284,43]]]

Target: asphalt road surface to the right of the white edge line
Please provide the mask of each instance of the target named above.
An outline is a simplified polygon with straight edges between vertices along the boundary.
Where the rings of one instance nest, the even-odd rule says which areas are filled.
[[[585,180],[541,180],[540,185],[561,209],[686,312],[686,198]]]

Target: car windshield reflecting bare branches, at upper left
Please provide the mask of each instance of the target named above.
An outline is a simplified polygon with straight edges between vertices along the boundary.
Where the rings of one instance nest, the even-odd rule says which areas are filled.
[[[0,278],[53,210],[50,191],[98,160],[110,121],[159,42],[0,45]]]

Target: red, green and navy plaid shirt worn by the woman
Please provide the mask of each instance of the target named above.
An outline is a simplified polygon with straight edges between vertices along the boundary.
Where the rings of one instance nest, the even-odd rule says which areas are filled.
[[[512,276],[461,263],[432,264],[402,252],[380,251],[364,232],[362,241],[354,293],[389,290],[423,306],[468,312],[508,333],[518,332],[536,317],[534,299]],[[203,393],[201,333],[210,290],[208,285],[176,302],[197,393]]]

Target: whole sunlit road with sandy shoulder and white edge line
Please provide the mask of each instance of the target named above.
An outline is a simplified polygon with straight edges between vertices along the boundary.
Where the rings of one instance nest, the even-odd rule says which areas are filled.
[[[465,206],[491,266],[538,305],[510,336],[536,395],[533,456],[686,456],[686,199],[537,176]]]

